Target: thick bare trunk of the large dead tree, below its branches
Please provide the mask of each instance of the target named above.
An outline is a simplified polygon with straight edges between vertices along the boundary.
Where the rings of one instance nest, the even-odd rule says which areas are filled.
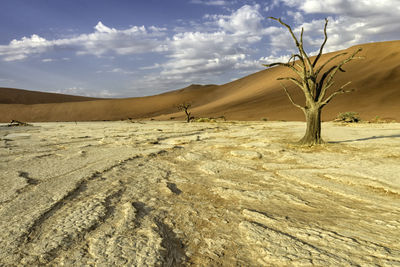
[[[306,134],[299,143],[301,145],[317,145],[323,144],[324,141],[321,138],[321,108],[313,107],[304,110],[307,121]]]

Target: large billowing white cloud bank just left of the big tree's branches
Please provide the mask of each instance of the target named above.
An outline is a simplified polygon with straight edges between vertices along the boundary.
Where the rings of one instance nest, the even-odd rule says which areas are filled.
[[[214,31],[175,34],[168,43],[168,60],[157,65],[160,73],[148,76],[147,81],[158,85],[199,83],[204,77],[232,70],[260,69],[249,59],[252,45],[266,34],[259,9],[259,5],[244,5],[230,15],[208,15]]]

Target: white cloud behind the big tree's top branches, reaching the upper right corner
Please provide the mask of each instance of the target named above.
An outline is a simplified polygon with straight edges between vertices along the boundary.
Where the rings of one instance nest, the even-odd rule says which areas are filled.
[[[400,5],[398,0],[280,0],[293,8],[289,11],[296,22],[294,30],[305,29],[305,46],[314,51],[323,41],[324,21],[313,19],[303,21],[301,14],[321,14],[329,19],[328,42],[325,52],[345,49],[350,46],[374,41],[392,40],[400,35]],[[279,43],[290,39],[281,32],[271,44],[279,49]],[[292,43],[293,41],[291,41]]]

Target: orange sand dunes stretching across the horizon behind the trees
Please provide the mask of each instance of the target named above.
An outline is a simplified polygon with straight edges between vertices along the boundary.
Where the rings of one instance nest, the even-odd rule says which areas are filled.
[[[336,88],[352,81],[349,88],[355,92],[339,95],[322,112],[323,120],[333,119],[339,112],[355,111],[361,118],[369,120],[375,116],[400,121],[400,41],[370,43],[351,47],[355,51],[362,47],[363,60],[352,61],[336,78]],[[320,62],[338,52],[324,55]],[[40,93],[37,98],[16,103],[14,96],[19,91],[6,91],[13,99],[0,102],[0,121],[89,121],[120,119],[170,119],[183,118],[176,105],[192,102],[192,113],[196,117],[225,116],[238,120],[304,120],[303,113],[294,107],[281,89],[278,77],[293,76],[282,67],[257,72],[224,85],[191,85],[187,88],[160,95],[126,99],[88,99],[58,95],[45,101]],[[301,91],[285,82],[295,101],[303,103]],[[334,90],[333,88],[332,90]],[[0,91],[4,94],[3,91]],[[27,92],[27,91],[23,91]],[[28,97],[27,97],[28,98]],[[79,101],[79,102],[71,102]],[[57,103],[55,103],[57,102]],[[61,103],[62,102],[62,103]],[[6,103],[6,104],[4,104]]]

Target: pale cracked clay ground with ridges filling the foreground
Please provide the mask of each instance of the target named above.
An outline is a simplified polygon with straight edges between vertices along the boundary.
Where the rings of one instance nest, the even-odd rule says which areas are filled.
[[[0,266],[400,266],[400,124],[0,127]]]

